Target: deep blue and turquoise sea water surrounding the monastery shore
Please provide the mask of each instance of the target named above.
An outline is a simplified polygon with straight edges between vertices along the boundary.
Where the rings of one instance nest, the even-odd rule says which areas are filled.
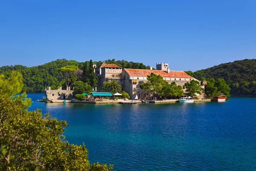
[[[193,104],[33,103],[69,126],[70,143],[89,151],[90,163],[117,171],[255,171],[256,98]]]

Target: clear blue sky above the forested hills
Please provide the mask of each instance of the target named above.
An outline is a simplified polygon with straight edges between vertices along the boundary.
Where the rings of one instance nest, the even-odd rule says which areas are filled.
[[[0,66],[66,58],[200,70],[256,56],[256,0],[2,0]]]

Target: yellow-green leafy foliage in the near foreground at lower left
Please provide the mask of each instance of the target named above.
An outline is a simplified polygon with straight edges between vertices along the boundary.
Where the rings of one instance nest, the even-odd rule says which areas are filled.
[[[12,80],[12,81],[7,81]],[[16,96],[7,87],[20,83],[13,72],[0,92],[0,168],[4,171],[110,171],[113,165],[90,165],[85,145],[64,141],[67,122],[43,115],[41,110],[26,110],[31,100],[26,94]],[[22,84],[15,84],[21,90]],[[6,91],[5,91],[6,90]],[[15,92],[19,93],[19,92]],[[10,96],[7,96],[7,95]]]

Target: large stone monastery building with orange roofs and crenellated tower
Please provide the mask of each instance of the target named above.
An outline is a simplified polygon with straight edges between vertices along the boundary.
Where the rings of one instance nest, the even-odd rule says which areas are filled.
[[[96,68],[96,75],[99,77],[99,90],[101,90],[104,81],[116,79],[129,96],[133,97],[137,95],[139,99],[145,99],[148,94],[140,88],[140,84],[148,81],[147,75],[150,75],[151,72],[156,75],[161,75],[169,84],[175,82],[177,85],[182,86],[184,92],[186,91],[186,87],[184,85],[186,82],[191,80],[198,81],[184,71],[170,71],[168,63],[157,63],[156,68],[157,70],[152,70],[152,67],[150,67],[150,70],[122,69],[115,64],[105,64],[103,62],[98,68]],[[201,84],[202,88],[206,85],[206,81],[198,82]],[[199,98],[203,97],[204,91]]]

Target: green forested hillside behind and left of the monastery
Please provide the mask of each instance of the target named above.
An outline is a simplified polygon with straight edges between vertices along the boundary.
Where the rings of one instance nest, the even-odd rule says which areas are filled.
[[[94,61],[93,63],[99,66],[102,62],[103,61]],[[145,66],[142,63],[128,62],[125,60],[115,61],[115,59],[108,59],[104,62],[107,64],[116,64],[119,67],[124,68],[150,68],[149,66]],[[22,65],[3,66],[0,67],[0,73],[3,73],[9,77],[13,70],[17,70],[23,75],[24,87],[22,91],[26,91],[27,93],[41,93],[44,92],[44,87],[47,86],[51,86],[53,89],[57,88],[58,86],[65,87],[65,78],[61,70],[59,70],[60,68],[66,66],[76,66],[79,69],[84,70],[84,68],[86,68],[86,64],[89,64],[89,61],[77,62],[74,60],[57,59],[56,61],[39,65],[37,67],[25,67]],[[83,74],[86,75],[86,73]],[[77,81],[82,80],[83,78],[84,76],[81,76],[81,78],[77,78]]]

